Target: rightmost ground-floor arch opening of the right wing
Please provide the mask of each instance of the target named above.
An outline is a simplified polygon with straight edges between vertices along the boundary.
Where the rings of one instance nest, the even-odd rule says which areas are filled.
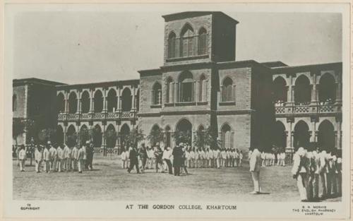
[[[318,147],[326,151],[335,149],[335,127],[327,119],[318,126]]]

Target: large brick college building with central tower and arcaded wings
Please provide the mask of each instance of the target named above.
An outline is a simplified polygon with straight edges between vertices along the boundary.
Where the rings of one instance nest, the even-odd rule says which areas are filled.
[[[104,134],[138,127],[162,129],[164,145],[174,146],[175,131],[194,139],[210,126],[225,148],[341,148],[342,63],[236,61],[237,20],[209,11],[163,18],[163,66],[137,80],[55,86],[60,141],[94,128],[97,147],[119,149],[124,142]]]

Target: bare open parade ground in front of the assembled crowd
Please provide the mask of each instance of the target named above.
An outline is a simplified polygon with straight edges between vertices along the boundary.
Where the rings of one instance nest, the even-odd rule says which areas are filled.
[[[93,171],[42,172],[26,162],[20,172],[13,161],[13,199],[49,201],[300,201],[297,185],[288,167],[262,167],[261,186],[269,194],[251,195],[249,164],[221,169],[193,169],[174,177],[148,169],[131,174],[121,168],[119,157],[95,156]],[[331,198],[326,201],[340,201]]]

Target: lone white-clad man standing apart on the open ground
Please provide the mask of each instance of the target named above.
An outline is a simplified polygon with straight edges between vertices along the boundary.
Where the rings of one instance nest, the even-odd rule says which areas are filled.
[[[260,187],[260,168],[261,168],[261,153],[258,148],[254,148],[250,157],[250,172],[253,178],[253,191],[250,194],[258,194],[261,191]]]

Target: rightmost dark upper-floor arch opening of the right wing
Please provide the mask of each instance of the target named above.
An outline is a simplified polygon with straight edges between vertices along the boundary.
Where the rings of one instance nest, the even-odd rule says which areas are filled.
[[[318,85],[318,100],[324,103],[333,103],[336,100],[335,78],[330,73],[325,73],[320,78]]]

